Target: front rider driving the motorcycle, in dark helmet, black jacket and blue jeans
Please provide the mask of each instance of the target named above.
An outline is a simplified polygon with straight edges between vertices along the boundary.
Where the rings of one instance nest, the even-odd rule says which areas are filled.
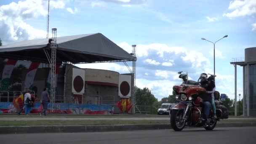
[[[207,78],[207,74],[206,73],[202,73],[200,75],[200,85],[201,87],[205,88],[206,91],[212,91],[213,89],[211,89],[211,85],[209,85],[208,83],[208,78]],[[206,125],[209,123],[209,113],[210,113],[210,107],[211,107],[211,93],[202,93],[202,95],[200,96],[203,99],[203,113],[205,114],[205,120],[206,120]]]

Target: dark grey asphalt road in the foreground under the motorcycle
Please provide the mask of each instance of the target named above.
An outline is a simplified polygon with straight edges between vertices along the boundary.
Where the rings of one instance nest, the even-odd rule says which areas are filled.
[[[95,133],[1,134],[1,144],[256,144],[256,127]]]

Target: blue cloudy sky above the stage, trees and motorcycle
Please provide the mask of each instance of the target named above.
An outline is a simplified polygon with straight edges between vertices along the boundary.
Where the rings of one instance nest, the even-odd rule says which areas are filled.
[[[3,45],[45,38],[47,13],[48,0],[0,0]],[[256,0],[50,0],[49,15],[49,32],[57,28],[57,36],[100,32],[128,53],[137,45],[136,86],[149,88],[158,100],[182,83],[179,71],[188,72],[189,80],[213,74],[213,43],[224,35],[215,45],[216,91],[234,99],[230,62],[244,60],[245,48],[256,47]],[[76,66],[129,73],[123,62]],[[241,99],[242,76],[237,66]]]

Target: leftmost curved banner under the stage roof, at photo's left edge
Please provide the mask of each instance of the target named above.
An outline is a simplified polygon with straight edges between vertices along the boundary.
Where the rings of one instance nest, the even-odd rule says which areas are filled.
[[[13,72],[13,68],[18,60],[16,59],[8,59],[5,67],[3,68],[3,75],[1,80],[1,91],[8,91],[10,85],[11,73]]]

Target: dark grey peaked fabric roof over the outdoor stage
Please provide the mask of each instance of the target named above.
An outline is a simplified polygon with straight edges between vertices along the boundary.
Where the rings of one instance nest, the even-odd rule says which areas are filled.
[[[51,56],[48,38],[26,40],[0,46],[0,57],[48,63],[43,49]],[[92,63],[133,61],[136,58],[101,33],[57,37],[56,62]]]

